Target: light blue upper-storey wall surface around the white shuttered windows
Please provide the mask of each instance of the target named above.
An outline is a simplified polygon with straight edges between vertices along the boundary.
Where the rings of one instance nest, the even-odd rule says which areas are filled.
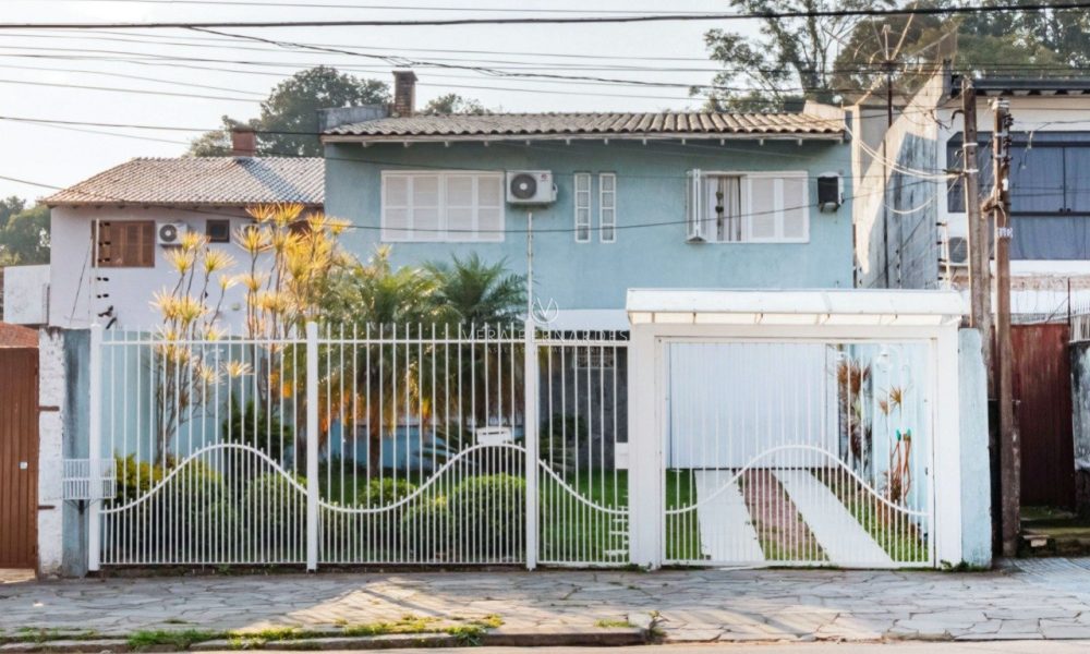
[[[811,211],[810,242],[744,244],[686,242],[686,171],[806,170],[810,198],[825,172],[844,175],[848,187],[850,152],[838,142],[718,141],[690,143],[564,142],[547,144],[355,144],[326,147],[326,211],[371,229],[353,229],[343,243],[365,256],[379,242],[380,172],[428,169],[543,169],[556,174],[559,197],[534,210],[536,293],[565,308],[620,308],[625,292],[640,287],[850,288],[852,269],[850,201],[835,213]],[[597,223],[597,173],[617,179],[617,242],[576,243],[572,174],[594,177],[592,215]],[[508,230],[525,229],[525,211],[506,214]],[[629,229],[629,226],[667,223]],[[597,234],[595,234],[596,239]],[[477,252],[489,261],[506,257],[525,269],[525,234],[508,232],[501,243],[397,243],[395,265],[447,261],[452,253]]]

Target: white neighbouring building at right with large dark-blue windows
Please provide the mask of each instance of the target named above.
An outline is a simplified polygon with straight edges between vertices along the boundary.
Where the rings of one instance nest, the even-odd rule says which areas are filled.
[[[1076,304],[1090,303],[1090,80],[983,77],[973,86],[982,195],[992,187],[990,104],[1006,99],[1014,118],[1016,319],[1066,315],[1069,290]],[[888,134],[881,129],[884,107],[855,112],[856,133],[873,135],[852,143],[857,187],[870,195],[855,205],[859,286],[965,288],[965,196],[957,177],[947,174],[962,167],[960,87],[958,75],[936,74],[897,111]]]

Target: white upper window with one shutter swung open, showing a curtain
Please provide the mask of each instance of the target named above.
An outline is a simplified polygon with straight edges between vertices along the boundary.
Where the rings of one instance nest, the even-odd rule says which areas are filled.
[[[810,239],[803,172],[689,171],[687,233],[708,243],[801,243]]]

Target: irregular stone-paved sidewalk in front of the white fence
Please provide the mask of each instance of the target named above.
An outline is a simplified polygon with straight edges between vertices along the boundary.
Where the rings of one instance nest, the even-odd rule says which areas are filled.
[[[667,642],[1090,639],[1090,559],[978,573],[667,570],[213,576],[0,584],[0,629],[324,628],[407,615],[593,630],[659,611]]]

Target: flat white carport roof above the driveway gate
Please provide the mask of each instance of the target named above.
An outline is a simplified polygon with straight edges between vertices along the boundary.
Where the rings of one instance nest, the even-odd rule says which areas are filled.
[[[961,320],[956,291],[629,289],[632,325],[948,325]]]

